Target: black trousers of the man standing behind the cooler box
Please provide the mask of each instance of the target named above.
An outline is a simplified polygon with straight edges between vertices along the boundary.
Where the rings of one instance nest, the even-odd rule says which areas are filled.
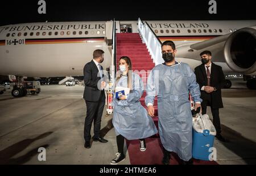
[[[219,135],[221,133],[221,125],[220,125],[220,116],[218,108],[214,109],[212,108],[212,95],[208,94],[203,99],[203,102],[201,104],[202,107],[202,114],[207,113],[207,106],[210,106],[210,110],[212,111],[213,116],[213,125],[216,128],[216,133]]]

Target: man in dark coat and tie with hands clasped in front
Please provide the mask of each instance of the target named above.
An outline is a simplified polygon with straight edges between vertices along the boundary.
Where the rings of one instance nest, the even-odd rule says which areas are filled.
[[[206,114],[207,106],[213,115],[213,125],[216,128],[216,138],[220,141],[226,141],[221,135],[219,108],[223,108],[221,98],[221,88],[225,83],[224,73],[222,68],[215,65],[210,51],[203,51],[200,53],[202,64],[195,68],[196,81],[200,86],[202,113]]]

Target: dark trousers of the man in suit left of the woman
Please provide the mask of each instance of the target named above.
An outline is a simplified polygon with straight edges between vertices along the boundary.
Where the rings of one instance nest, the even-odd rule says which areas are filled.
[[[101,117],[104,110],[105,105],[105,96],[104,91],[101,91],[100,99],[96,102],[94,101],[86,101],[86,117],[84,123],[84,140],[90,141],[92,136],[90,135],[90,129],[92,128],[93,122],[93,132],[94,138],[100,137],[101,130]]]

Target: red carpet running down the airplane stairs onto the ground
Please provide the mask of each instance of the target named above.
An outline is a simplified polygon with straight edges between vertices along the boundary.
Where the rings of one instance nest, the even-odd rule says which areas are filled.
[[[117,67],[119,58],[128,56],[131,59],[132,70],[139,71],[144,85],[146,85],[149,71],[155,66],[147,47],[142,43],[139,33],[117,33]],[[146,71],[146,74],[141,74],[141,71]],[[146,87],[144,87],[146,88]],[[146,92],[141,97],[141,104],[146,108],[144,97]],[[155,117],[153,118],[156,127],[158,127],[158,108],[157,100],[154,102]],[[130,163],[132,165],[158,165],[162,164],[163,152],[162,144],[159,135],[152,136],[146,139],[147,149],[144,152],[139,150],[139,140],[126,140],[127,149],[129,151]],[[193,160],[194,164],[217,164],[214,161]],[[170,164],[179,164],[180,159],[175,153],[172,153]]]

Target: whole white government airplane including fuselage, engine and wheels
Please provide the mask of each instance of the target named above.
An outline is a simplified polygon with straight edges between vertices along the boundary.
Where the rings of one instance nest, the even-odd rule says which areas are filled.
[[[45,22],[2,26],[0,75],[16,75],[18,78],[82,76],[83,67],[92,60],[95,49],[105,51],[104,68],[113,66],[113,33],[138,33],[142,20],[115,21],[115,30],[113,22]],[[214,62],[224,72],[243,74],[247,87],[256,89],[256,20],[145,20],[144,23],[159,42],[175,42],[177,61],[188,63],[194,69],[201,64],[200,52],[210,50]],[[12,95],[24,96],[24,91],[20,89],[17,85]]]

